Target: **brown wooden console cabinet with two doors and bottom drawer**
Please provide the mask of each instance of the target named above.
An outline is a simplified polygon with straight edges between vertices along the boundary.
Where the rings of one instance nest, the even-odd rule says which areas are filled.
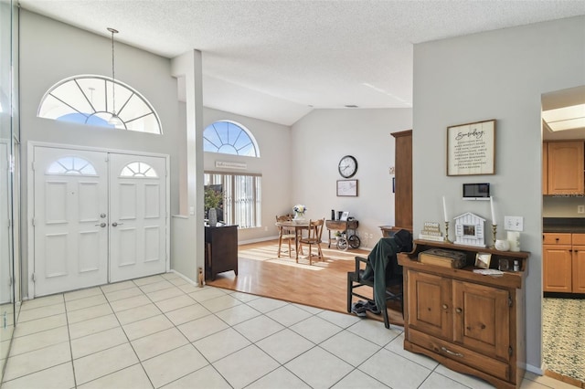
[[[524,280],[527,252],[498,251],[415,240],[411,253],[399,253],[404,271],[404,349],[430,356],[448,368],[472,374],[498,388],[519,388],[526,363]],[[465,268],[443,268],[418,261],[431,248],[463,251]],[[499,276],[473,273],[478,252],[518,260],[520,271]]]

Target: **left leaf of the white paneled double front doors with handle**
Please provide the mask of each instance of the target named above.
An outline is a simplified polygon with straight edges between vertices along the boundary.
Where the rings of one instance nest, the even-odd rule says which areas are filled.
[[[35,296],[108,278],[107,153],[35,147]]]

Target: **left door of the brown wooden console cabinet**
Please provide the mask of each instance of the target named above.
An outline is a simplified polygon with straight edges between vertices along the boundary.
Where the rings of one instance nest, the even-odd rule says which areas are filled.
[[[451,280],[409,271],[409,325],[442,338],[452,331]]]

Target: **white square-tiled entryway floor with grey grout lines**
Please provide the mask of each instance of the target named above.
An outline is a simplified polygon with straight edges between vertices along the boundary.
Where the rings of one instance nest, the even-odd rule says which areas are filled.
[[[23,302],[2,388],[492,387],[402,342],[399,327],[168,273]],[[549,387],[574,389],[522,384]]]

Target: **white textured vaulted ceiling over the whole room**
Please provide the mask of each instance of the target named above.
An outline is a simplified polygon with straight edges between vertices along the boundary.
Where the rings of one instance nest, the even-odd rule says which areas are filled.
[[[585,1],[20,0],[166,58],[203,53],[204,105],[293,124],[412,104],[413,44],[585,15]]]

